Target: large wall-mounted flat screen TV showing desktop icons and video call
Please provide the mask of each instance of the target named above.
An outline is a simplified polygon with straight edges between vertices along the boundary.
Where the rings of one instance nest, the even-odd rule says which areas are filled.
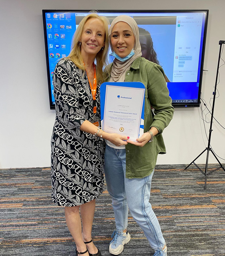
[[[43,10],[50,108],[54,109],[52,75],[60,58],[70,53],[73,34],[89,10]],[[110,23],[119,15],[133,17],[140,32],[142,56],[165,71],[174,107],[200,105],[208,10],[98,11]],[[110,51],[110,50],[109,50]],[[109,56],[109,62],[113,59]]]

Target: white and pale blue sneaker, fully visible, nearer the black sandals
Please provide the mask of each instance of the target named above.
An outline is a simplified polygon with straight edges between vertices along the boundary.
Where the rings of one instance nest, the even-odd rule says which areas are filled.
[[[109,252],[113,255],[120,254],[123,251],[123,245],[130,241],[128,230],[126,233],[113,231],[111,237],[113,237],[113,240],[109,244]]]

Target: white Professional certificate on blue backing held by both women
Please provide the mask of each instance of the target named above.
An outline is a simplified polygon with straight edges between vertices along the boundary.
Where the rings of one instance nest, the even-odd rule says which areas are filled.
[[[129,136],[132,141],[142,136],[144,92],[140,82],[103,83],[100,87],[102,129]]]

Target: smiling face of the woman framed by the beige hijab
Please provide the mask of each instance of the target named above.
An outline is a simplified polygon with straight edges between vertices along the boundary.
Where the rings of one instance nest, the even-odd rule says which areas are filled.
[[[113,50],[121,58],[131,52],[135,43],[134,33],[126,22],[117,22],[114,25],[110,40]]]

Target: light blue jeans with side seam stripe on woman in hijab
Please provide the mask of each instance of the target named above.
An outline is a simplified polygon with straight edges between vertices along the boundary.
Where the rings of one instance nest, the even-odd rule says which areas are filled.
[[[158,251],[165,246],[165,240],[149,203],[153,173],[154,171],[144,178],[126,178],[126,150],[106,145],[105,179],[112,197],[116,229],[122,232],[127,228],[129,208],[132,217],[143,229],[150,246]]]

